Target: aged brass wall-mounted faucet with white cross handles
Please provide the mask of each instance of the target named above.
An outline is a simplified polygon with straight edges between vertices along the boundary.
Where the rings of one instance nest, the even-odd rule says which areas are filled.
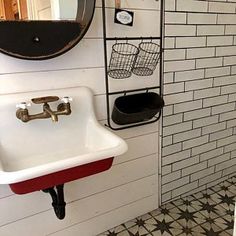
[[[50,106],[49,102],[56,102],[59,100],[59,97],[57,96],[48,96],[48,97],[39,97],[39,98],[33,98],[31,101],[34,104],[43,104],[43,112],[38,114],[30,115],[28,108],[30,106],[30,103],[20,103],[16,105],[18,108],[16,111],[16,117],[20,119],[23,122],[28,122],[31,120],[36,119],[48,119],[51,118],[53,122],[58,121],[58,116],[61,115],[70,115],[71,114],[71,107],[70,107],[70,101],[72,101],[72,98],[64,97],[61,99],[62,103],[60,103],[57,106],[57,110],[53,111]]]

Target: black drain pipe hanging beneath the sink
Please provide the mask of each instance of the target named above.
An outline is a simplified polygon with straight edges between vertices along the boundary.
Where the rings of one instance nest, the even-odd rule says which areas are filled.
[[[49,193],[52,198],[52,206],[58,219],[63,220],[66,215],[66,203],[64,201],[64,184],[42,190],[44,193]]]

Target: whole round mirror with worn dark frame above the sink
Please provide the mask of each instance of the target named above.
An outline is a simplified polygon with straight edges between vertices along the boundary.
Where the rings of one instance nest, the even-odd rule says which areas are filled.
[[[0,51],[42,60],[65,53],[87,32],[96,0],[0,0]]]

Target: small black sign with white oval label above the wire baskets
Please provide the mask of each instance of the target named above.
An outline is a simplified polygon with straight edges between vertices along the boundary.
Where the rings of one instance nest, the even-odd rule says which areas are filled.
[[[134,12],[123,9],[115,9],[115,23],[133,26]]]

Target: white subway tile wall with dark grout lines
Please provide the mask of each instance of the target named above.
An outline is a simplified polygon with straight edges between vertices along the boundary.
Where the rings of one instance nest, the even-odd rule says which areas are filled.
[[[165,15],[162,202],[236,174],[236,1],[168,1]]]

